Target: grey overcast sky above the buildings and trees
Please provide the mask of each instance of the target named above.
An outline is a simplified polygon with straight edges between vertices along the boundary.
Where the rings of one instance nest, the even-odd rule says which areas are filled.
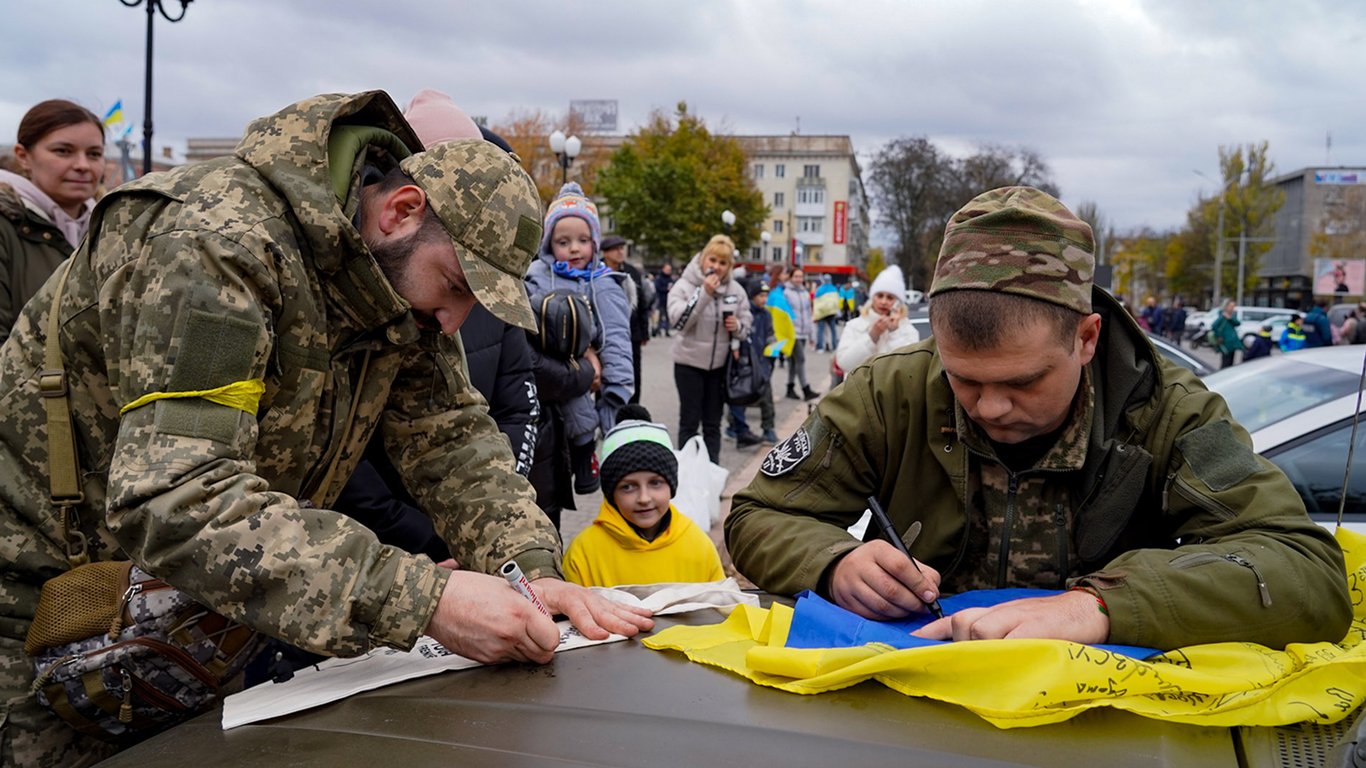
[[[0,142],[49,97],[122,98],[141,141],[143,7],[3,18]],[[686,100],[713,130],[848,134],[865,172],[897,137],[1029,146],[1120,231],[1179,227],[1221,145],[1366,164],[1359,0],[195,0],[154,34],[153,141],[182,149],[324,92],[436,87],[494,123],[613,98],[623,133]]]

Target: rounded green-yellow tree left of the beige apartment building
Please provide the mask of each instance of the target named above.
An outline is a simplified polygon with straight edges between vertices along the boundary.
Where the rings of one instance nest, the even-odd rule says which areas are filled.
[[[616,231],[635,241],[652,262],[683,261],[723,231],[721,212],[735,213],[731,238],[744,251],[769,209],[749,178],[749,159],[731,137],[713,135],[679,102],[627,137],[597,179]]]

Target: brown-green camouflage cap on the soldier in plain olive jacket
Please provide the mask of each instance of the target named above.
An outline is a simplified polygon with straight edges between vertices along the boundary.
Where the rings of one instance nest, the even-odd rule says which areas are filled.
[[[1000,291],[1090,314],[1094,250],[1090,224],[1053,195],[1001,187],[977,195],[949,219],[930,297]]]

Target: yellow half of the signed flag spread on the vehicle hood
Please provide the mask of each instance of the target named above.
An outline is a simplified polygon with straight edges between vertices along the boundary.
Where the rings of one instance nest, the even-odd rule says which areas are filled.
[[[791,693],[877,681],[964,707],[1000,728],[1059,723],[1094,707],[1199,726],[1336,723],[1366,701],[1366,536],[1339,529],[1354,620],[1340,642],[1180,648],[1138,661],[1060,640],[985,640],[929,648],[784,648],[792,609],[740,605],[709,626],[672,626],[656,650]]]

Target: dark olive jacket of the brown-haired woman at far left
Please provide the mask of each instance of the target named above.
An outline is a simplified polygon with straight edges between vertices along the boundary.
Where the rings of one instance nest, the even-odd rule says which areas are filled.
[[[52,221],[29,209],[14,187],[0,183],[0,344],[23,305],[71,250]]]

